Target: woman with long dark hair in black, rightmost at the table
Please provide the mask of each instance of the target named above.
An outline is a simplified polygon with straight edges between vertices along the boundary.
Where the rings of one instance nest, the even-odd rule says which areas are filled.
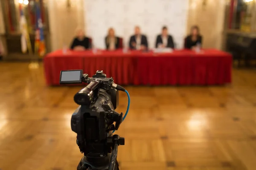
[[[196,45],[202,45],[202,39],[198,26],[192,26],[190,35],[185,39],[185,48],[195,50]]]

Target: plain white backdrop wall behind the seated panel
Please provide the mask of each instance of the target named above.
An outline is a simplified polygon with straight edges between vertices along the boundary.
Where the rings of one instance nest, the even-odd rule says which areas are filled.
[[[123,37],[125,45],[138,25],[153,48],[162,26],[169,28],[177,48],[186,35],[188,0],[84,0],[84,28],[96,48],[105,48],[108,28]]]

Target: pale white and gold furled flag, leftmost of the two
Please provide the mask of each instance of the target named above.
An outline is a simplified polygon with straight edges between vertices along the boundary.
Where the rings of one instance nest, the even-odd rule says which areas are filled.
[[[31,42],[30,42],[28,28],[27,28],[27,23],[26,23],[26,17],[24,15],[23,7],[22,7],[21,4],[19,6],[19,9],[20,9],[20,32],[21,32],[20,43],[21,43],[21,51],[23,53],[26,53],[27,50],[29,49],[29,53],[32,54],[32,48],[31,48]]]

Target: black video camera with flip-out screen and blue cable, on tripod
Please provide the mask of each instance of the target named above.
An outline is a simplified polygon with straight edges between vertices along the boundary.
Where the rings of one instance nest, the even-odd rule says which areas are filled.
[[[77,133],[76,144],[84,153],[77,170],[119,170],[117,147],[124,145],[125,139],[113,132],[118,130],[128,113],[129,94],[103,71],[97,71],[93,77],[83,74],[82,70],[61,71],[60,84],[83,82],[88,85],[75,94],[74,101],[80,106],[71,118],[71,129]],[[115,111],[119,91],[128,95],[125,116]]]

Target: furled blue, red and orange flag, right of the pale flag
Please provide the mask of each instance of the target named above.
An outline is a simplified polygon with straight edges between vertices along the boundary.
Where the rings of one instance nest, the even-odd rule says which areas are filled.
[[[41,19],[40,4],[38,0],[36,0],[35,2],[35,8],[36,8],[35,53],[38,53],[39,56],[44,56],[45,54],[44,30],[43,30],[43,23]]]

